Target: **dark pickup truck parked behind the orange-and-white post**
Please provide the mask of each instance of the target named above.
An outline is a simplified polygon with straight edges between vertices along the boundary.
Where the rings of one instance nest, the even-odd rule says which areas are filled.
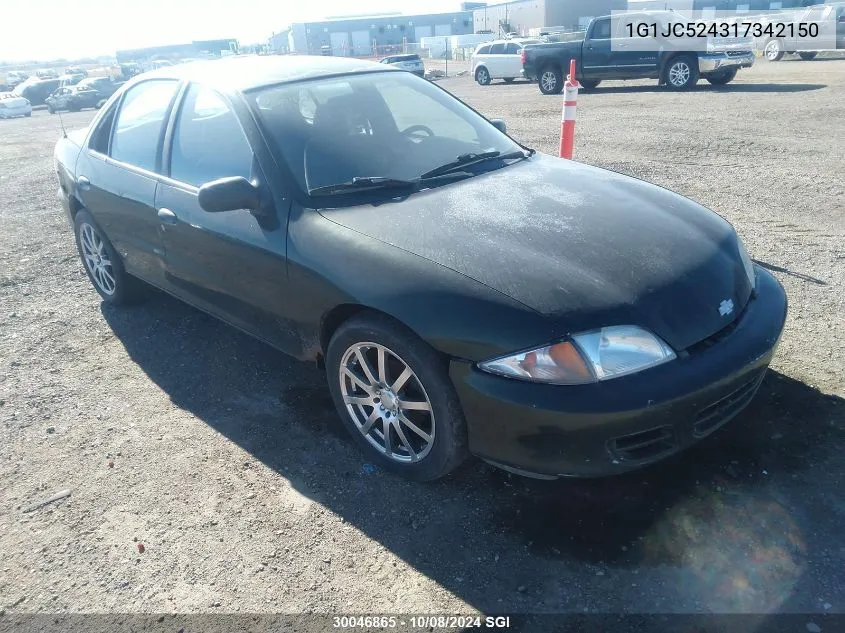
[[[537,81],[543,94],[558,94],[569,69],[577,63],[576,76],[581,85],[593,89],[605,79],[657,79],[675,90],[692,88],[699,78],[711,84],[733,81],[740,68],[754,64],[751,38],[709,40],[706,51],[684,51],[674,47],[641,50],[642,42],[628,36],[628,25],[661,24],[677,21],[669,11],[630,13],[624,16],[595,18],[584,39],[550,44],[532,44],[522,50],[522,74]],[[634,31],[636,32],[636,31]]]

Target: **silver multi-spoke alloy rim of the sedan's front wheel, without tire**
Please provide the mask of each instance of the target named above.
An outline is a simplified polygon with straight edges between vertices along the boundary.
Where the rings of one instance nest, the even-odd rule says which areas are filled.
[[[434,445],[431,400],[398,354],[378,343],[355,343],[340,361],[346,411],[361,435],[398,463],[424,459]]]

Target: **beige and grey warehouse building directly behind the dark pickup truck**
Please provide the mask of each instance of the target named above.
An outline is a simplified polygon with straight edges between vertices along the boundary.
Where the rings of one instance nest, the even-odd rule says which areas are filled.
[[[624,11],[627,0],[517,0],[473,10],[476,33],[530,35],[532,29],[562,27],[577,31],[596,16]]]

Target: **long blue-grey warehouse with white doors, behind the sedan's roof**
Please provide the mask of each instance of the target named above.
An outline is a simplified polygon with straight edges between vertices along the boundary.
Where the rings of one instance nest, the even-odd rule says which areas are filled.
[[[472,12],[426,15],[343,17],[292,24],[270,38],[277,53],[364,57],[390,47],[419,43],[423,37],[472,33]]]

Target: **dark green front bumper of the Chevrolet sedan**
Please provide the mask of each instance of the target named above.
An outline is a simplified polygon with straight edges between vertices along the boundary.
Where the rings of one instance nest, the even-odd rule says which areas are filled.
[[[757,268],[757,291],[732,331],[707,349],[638,374],[570,387],[511,380],[454,361],[450,376],[470,451],[545,478],[612,475],[676,453],[751,401],[786,310],[781,285]]]

